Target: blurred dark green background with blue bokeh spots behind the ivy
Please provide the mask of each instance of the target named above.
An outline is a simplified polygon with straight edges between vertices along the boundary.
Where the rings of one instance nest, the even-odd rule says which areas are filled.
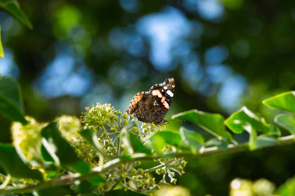
[[[166,119],[189,109],[227,118],[246,105],[273,123],[279,111],[261,101],[295,87],[294,0],[19,2],[33,29],[0,10],[0,71],[19,80],[26,114],[38,121],[79,116],[96,102],[124,111],[136,93],[174,77]],[[0,123],[9,129],[11,122]],[[189,123],[166,129],[180,125],[211,138]],[[228,195],[236,177],[264,177],[278,187],[295,174],[294,149],[188,159],[177,184],[200,196]]]

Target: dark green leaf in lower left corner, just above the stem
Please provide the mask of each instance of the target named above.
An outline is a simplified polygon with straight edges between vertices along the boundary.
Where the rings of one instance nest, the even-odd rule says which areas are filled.
[[[30,169],[18,155],[15,147],[10,144],[0,144],[0,167],[16,178],[31,178],[43,181],[42,173]]]

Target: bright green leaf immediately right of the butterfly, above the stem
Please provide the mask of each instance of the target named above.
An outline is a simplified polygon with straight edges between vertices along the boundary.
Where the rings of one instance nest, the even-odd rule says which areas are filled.
[[[172,116],[172,119],[189,121],[197,124],[218,139],[230,138],[232,135],[225,129],[224,118],[220,114],[189,110]]]

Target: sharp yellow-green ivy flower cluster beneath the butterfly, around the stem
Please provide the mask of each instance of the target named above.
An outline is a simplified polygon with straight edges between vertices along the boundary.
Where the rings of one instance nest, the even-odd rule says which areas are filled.
[[[151,123],[143,123],[139,128],[139,122],[133,118],[133,115],[123,114],[121,111],[116,111],[111,104],[92,105],[87,107],[86,112],[82,113],[81,122],[85,128],[92,128],[95,131],[98,142],[103,150],[114,157],[126,155],[124,143],[122,143],[122,131],[127,130],[138,136],[144,144],[156,132],[162,129],[159,126]],[[165,127],[164,127],[165,128]],[[81,148],[80,148],[81,149]],[[172,152],[174,147],[167,145],[163,151]],[[81,153],[80,153],[81,154]],[[85,152],[87,154],[87,152]],[[89,155],[89,157],[97,155]],[[104,162],[110,158],[104,157]],[[133,190],[142,193],[151,193],[159,188],[159,184],[169,184],[166,182],[166,175],[170,178],[170,183],[175,184],[175,172],[180,175],[183,173],[183,167],[186,162],[182,158],[155,159],[159,165],[147,170],[136,169],[140,167],[140,162],[131,162],[121,164],[117,168],[112,168],[104,173],[106,183],[100,187],[100,192],[113,190],[116,186],[120,186],[124,190]],[[99,165],[100,161],[92,165]],[[152,178],[151,172],[163,175],[163,179],[157,184]]]

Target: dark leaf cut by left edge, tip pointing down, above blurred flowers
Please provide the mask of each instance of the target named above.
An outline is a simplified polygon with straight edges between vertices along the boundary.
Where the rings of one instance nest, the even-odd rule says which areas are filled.
[[[12,121],[27,123],[21,88],[12,76],[0,77],[0,114]]]

